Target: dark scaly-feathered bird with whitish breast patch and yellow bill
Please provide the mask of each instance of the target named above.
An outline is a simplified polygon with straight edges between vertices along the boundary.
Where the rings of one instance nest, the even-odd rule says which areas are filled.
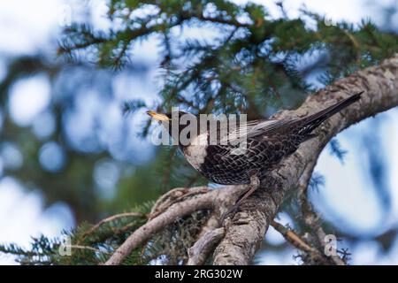
[[[211,144],[210,129],[205,127],[204,131],[197,130],[192,134],[190,142],[178,142],[183,156],[188,160],[195,170],[213,183],[220,185],[252,185],[246,194],[241,195],[237,204],[259,187],[259,182],[283,159],[297,150],[302,142],[316,137],[314,130],[320,126],[325,119],[357,102],[363,92],[356,93],[322,111],[308,115],[303,118],[292,119],[256,119],[249,120],[244,125],[228,128],[226,134],[217,137],[216,144]],[[159,113],[147,111],[152,119],[163,122],[163,126],[172,135],[172,123],[178,122],[184,115],[188,120],[200,119],[191,113],[178,111],[178,115],[172,113]],[[175,121],[174,121],[175,120]],[[187,125],[178,125],[177,134],[180,134]],[[199,128],[199,126],[197,126]],[[218,130],[218,135],[220,131]],[[229,136],[239,133],[245,140],[245,150],[236,154],[239,145]],[[235,134],[235,135],[233,135]],[[189,138],[189,136],[188,136]],[[197,139],[204,142],[197,142]],[[222,143],[220,141],[225,140]]]

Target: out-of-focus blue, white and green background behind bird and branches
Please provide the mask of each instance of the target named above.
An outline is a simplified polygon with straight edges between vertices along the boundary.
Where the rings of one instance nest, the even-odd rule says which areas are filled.
[[[371,19],[398,33],[396,0],[284,1],[290,18],[304,4],[331,24]],[[279,17],[276,4],[266,7]],[[141,98],[154,107],[159,102],[156,39],[135,45],[131,64],[121,71],[57,57],[64,27],[77,21],[106,28],[106,11],[102,0],[0,4],[0,242],[28,247],[41,233],[55,237],[84,221],[94,223],[156,199],[170,188],[162,184],[185,174],[167,172],[163,159],[171,153],[142,136],[145,109],[121,111],[126,100]],[[203,28],[181,36],[210,41],[214,34]],[[323,86],[317,73],[308,80]],[[398,264],[398,110],[351,126],[337,140],[344,158],[325,149],[310,198],[341,237],[339,245],[352,253],[350,264]],[[293,225],[294,217],[279,213],[284,224]],[[296,264],[295,254],[270,228],[256,264]],[[14,260],[0,254],[0,264]]]

